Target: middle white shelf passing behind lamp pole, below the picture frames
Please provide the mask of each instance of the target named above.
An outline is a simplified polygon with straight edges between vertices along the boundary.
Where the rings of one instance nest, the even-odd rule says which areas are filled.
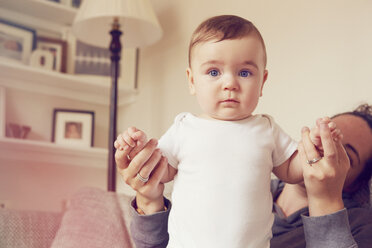
[[[50,96],[65,97],[100,105],[109,105],[110,78],[64,74],[11,62],[0,58],[0,85]],[[137,90],[119,83],[118,105],[135,101]]]

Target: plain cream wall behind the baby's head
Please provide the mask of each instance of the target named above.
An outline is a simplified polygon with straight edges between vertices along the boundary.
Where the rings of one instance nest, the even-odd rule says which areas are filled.
[[[159,138],[182,111],[199,112],[188,93],[188,41],[204,19],[235,14],[261,31],[269,78],[256,113],[269,113],[294,138],[318,117],[372,104],[372,2],[366,0],[153,0],[163,38],[141,49],[140,94],[120,109],[119,130]],[[120,179],[119,179],[120,180]],[[119,185],[120,190],[124,186]]]

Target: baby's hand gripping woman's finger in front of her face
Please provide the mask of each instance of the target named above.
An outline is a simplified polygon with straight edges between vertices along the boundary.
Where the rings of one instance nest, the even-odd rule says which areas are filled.
[[[329,117],[319,118],[316,120],[316,125],[310,130],[310,139],[319,151],[323,151],[322,141],[320,139],[320,123],[327,123],[331,130],[332,138],[334,141],[342,139],[343,135],[340,129],[337,129],[336,123],[334,123]]]

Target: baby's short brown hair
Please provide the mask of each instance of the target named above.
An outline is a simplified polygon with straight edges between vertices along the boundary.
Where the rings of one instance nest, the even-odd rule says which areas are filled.
[[[264,50],[264,66],[266,67],[266,47],[260,32],[252,22],[234,15],[211,17],[202,22],[196,28],[191,36],[189,45],[189,66],[191,67],[192,49],[197,44],[212,39],[217,39],[216,42],[229,39],[239,39],[250,35],[252,32],[258,37],[262,44]]]

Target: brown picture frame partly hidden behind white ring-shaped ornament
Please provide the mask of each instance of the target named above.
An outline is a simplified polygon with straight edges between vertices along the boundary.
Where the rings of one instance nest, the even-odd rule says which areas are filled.
[[[67,42],[44,36],[37,37],[37,48],[49,51],[53,55],[53,70],[66,72]]]

